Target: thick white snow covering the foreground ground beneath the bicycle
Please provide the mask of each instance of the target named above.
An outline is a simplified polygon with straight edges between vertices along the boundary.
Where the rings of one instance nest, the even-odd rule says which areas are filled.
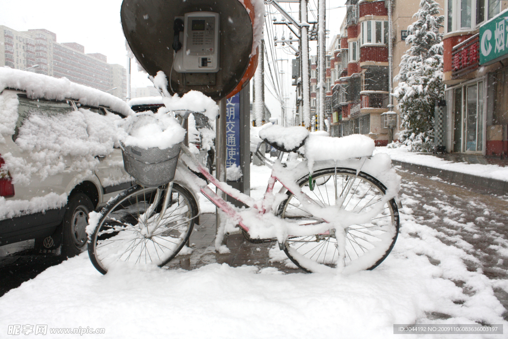
[[[251,167],[254,198],[264,193],[269,174],[264,166]],[[418,189],[411,182],[404,187]],[[49,328],[80,326],[104,328],[102,338],[464,337],[393,334],[394,324],[415,323],[503,324],[506,331],[493,290],[508,292],[508,283],[468,270],[466,262],[478,259],[451,241],[453,234],[420,223],[411,209],[418,199],[402,196],[401,233],[372,271],[284,274],[209,264],[193,271],[118,267],[102,275],[83,253],[1,297],[0,333],[26,324],[48,325],[51,338],[71,335],[50,335]],[[202,210],[214,211],[203,200]]]

